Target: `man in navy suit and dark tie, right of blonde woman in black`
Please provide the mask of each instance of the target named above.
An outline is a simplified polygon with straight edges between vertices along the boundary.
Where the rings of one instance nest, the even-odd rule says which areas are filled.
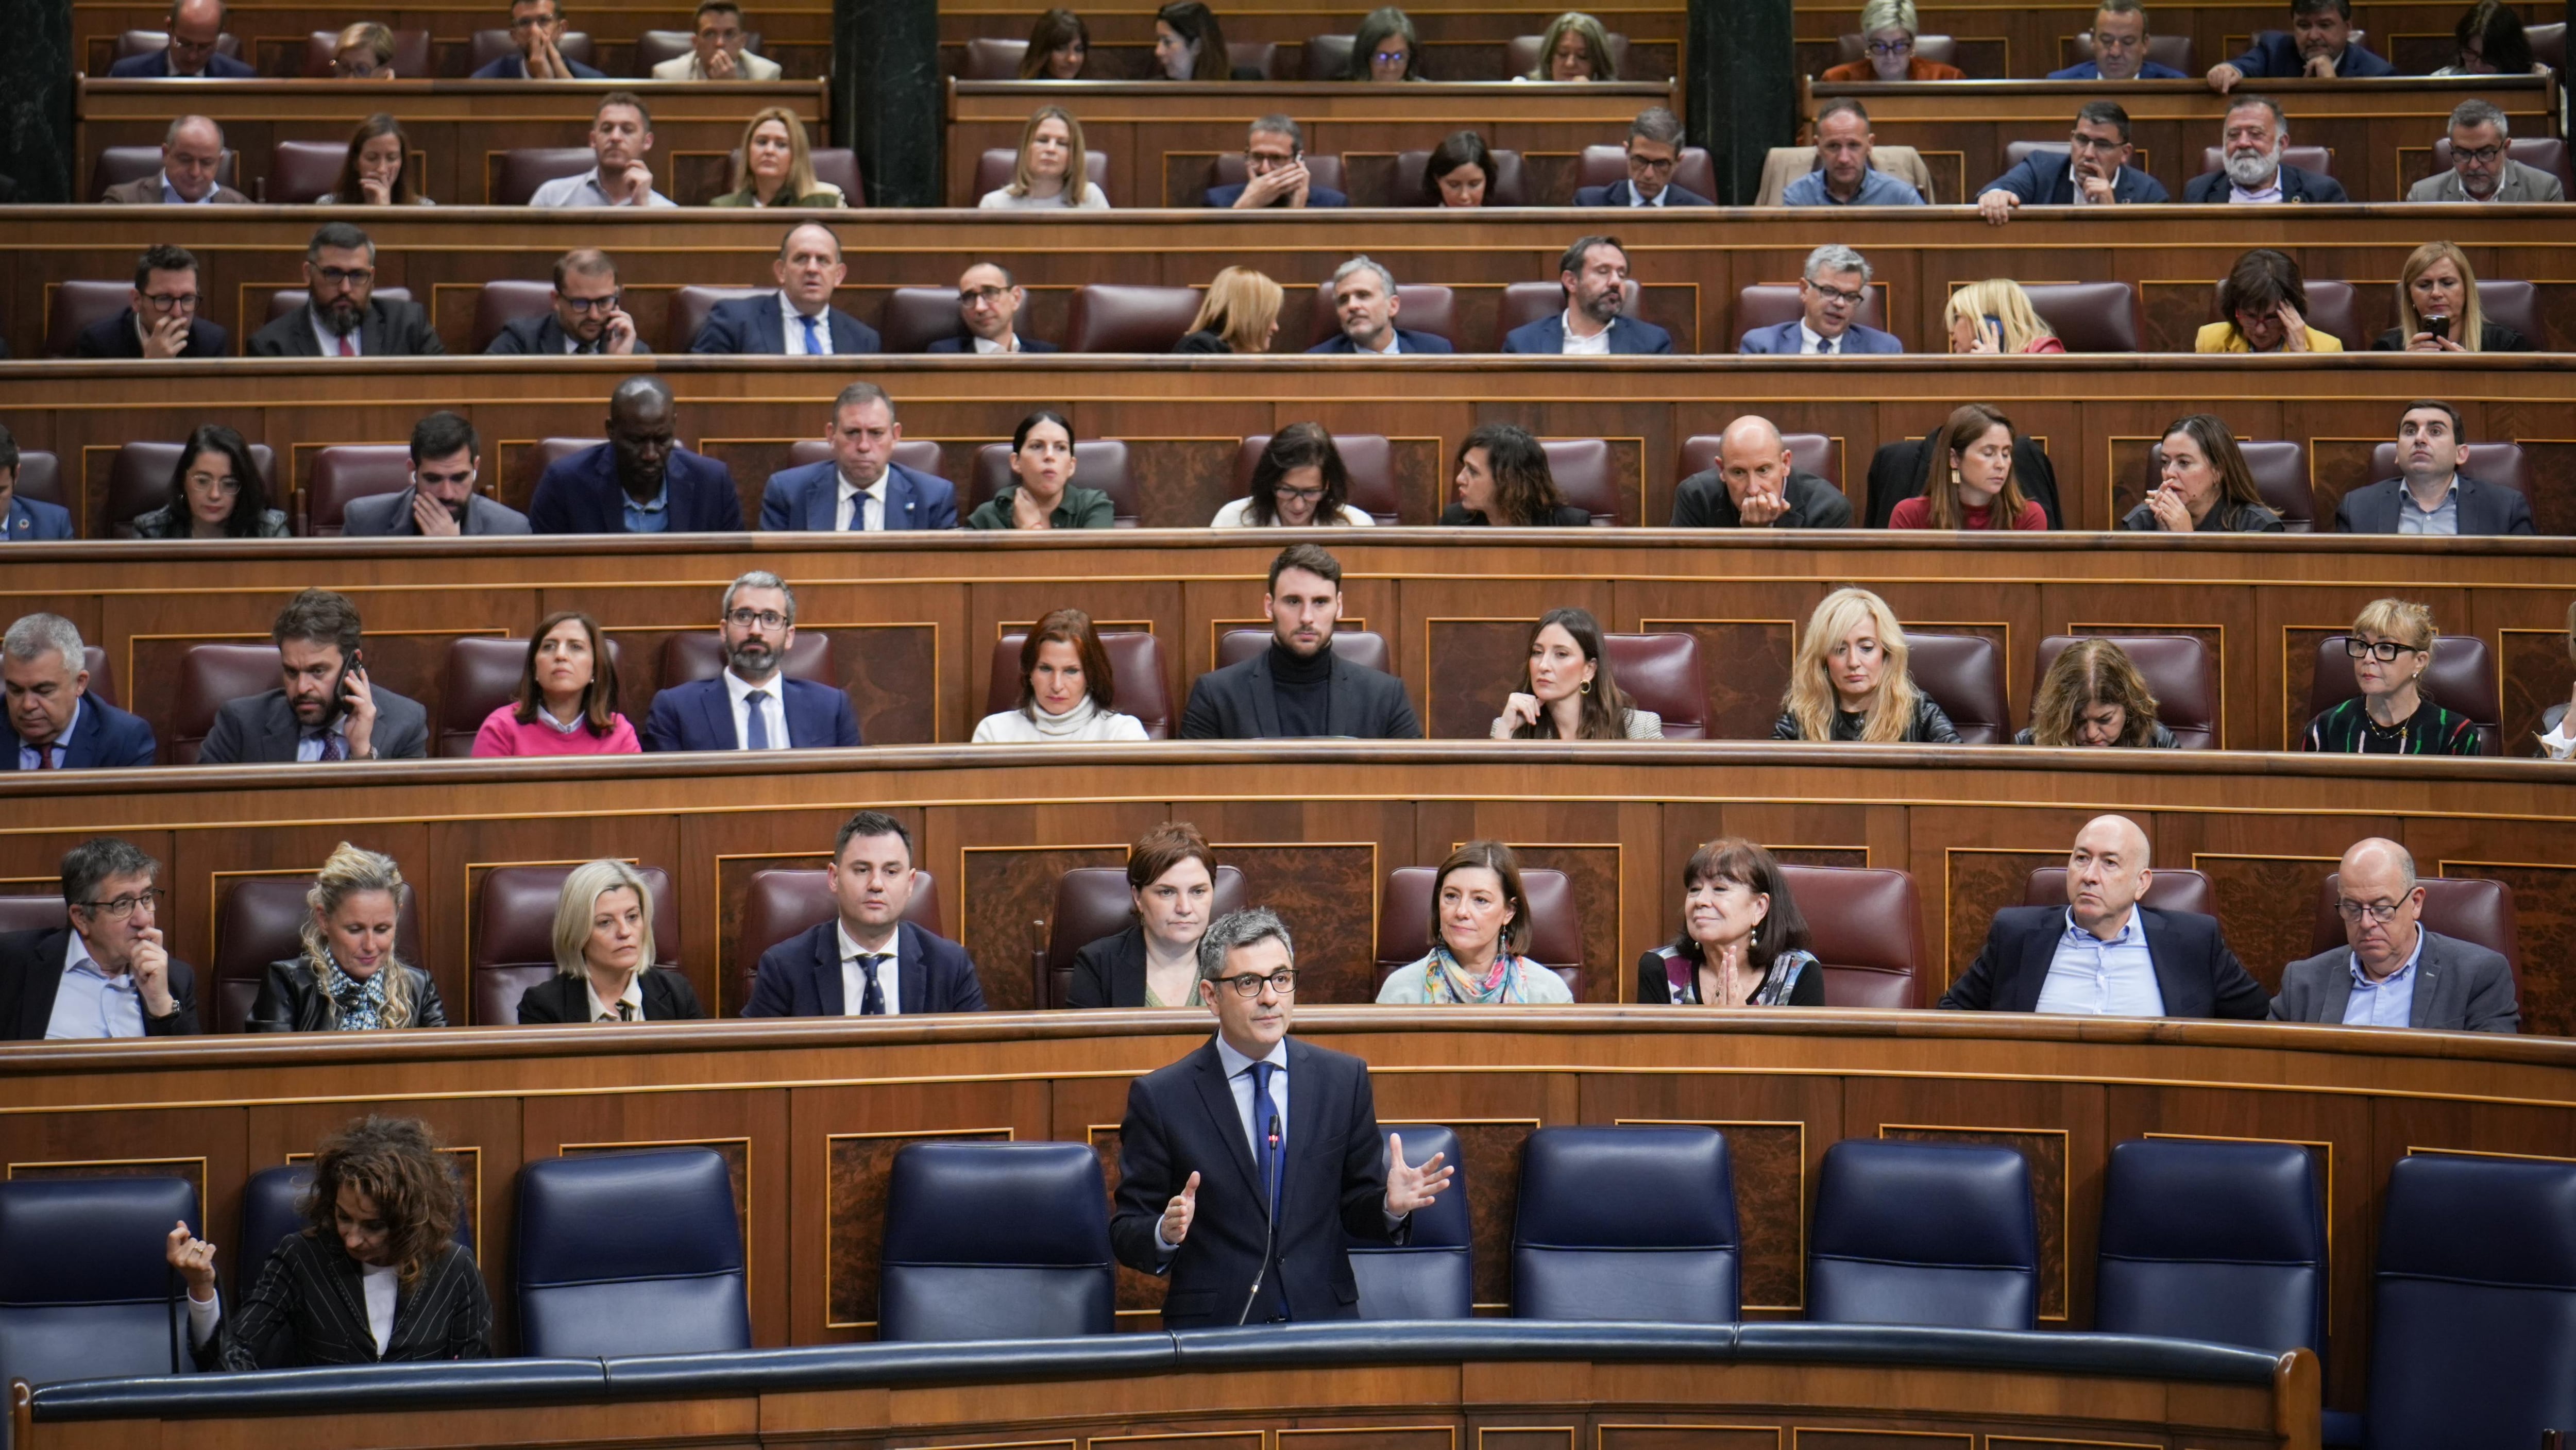
[[[744,1017],[912,1017],[981,1012],[984,984],[966,948],[904,919],[912,832],[858,811],[832,842],[832,919],[760,953]]]

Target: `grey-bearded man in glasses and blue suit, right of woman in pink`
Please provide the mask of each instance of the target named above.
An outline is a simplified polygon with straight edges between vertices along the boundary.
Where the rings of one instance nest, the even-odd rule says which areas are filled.
[[[781,672],[796,646],[796,592],[768,569],[724,590],[724,672],[652,698],[644,749],[827,749],[860,744],[850,695]],[[848,842],[842,842],[848,845]]]

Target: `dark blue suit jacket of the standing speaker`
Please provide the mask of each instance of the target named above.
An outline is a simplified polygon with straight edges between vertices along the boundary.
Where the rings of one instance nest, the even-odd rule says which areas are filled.
[[[1360,1316],[1350,1244],[1406,1236],[1406,1229],[1386,1229],[1386,1136],[1368,1064],[1288,1038],[1288,1138],[1280,1151],[1288,1164],[1273,1231],[1270,1195],[1255,1174],[1252,1138],[1216,1040],[1128,1087],[1110,1247],[1131,1270],[1170,1272],[1164,1326],[1231,1326],[1244,1316],[1255,1277],[1260,1301],[1249,1324]],[[1164,1257],[1154,1226],[1193,1172],[1198,1216],[1180,1249]],[[1275,1254],[1270,1272],[1262,1272],[1265,1247]]]

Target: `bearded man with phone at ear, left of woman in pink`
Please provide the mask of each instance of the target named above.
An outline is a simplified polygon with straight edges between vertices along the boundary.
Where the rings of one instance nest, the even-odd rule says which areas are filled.
[[[430,713],[379,690],[358,646],[358,605],[330,590],[289,600],[268,636],[281,685],[227,701],[198,749],[198,765],[422,760]]]

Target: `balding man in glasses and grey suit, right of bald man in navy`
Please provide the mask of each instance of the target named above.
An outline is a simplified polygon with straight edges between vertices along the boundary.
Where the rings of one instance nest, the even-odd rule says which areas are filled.
[[[2334,909],[2344,917],[2349,945],[2285,966],[2272,1020],[2434,1033],[2519,1030],[2514,974],[2504,958],[2419,922],[2424,889],[2416,886],[2414,858],[2403,845],[2370,837],[2347,850]]]

